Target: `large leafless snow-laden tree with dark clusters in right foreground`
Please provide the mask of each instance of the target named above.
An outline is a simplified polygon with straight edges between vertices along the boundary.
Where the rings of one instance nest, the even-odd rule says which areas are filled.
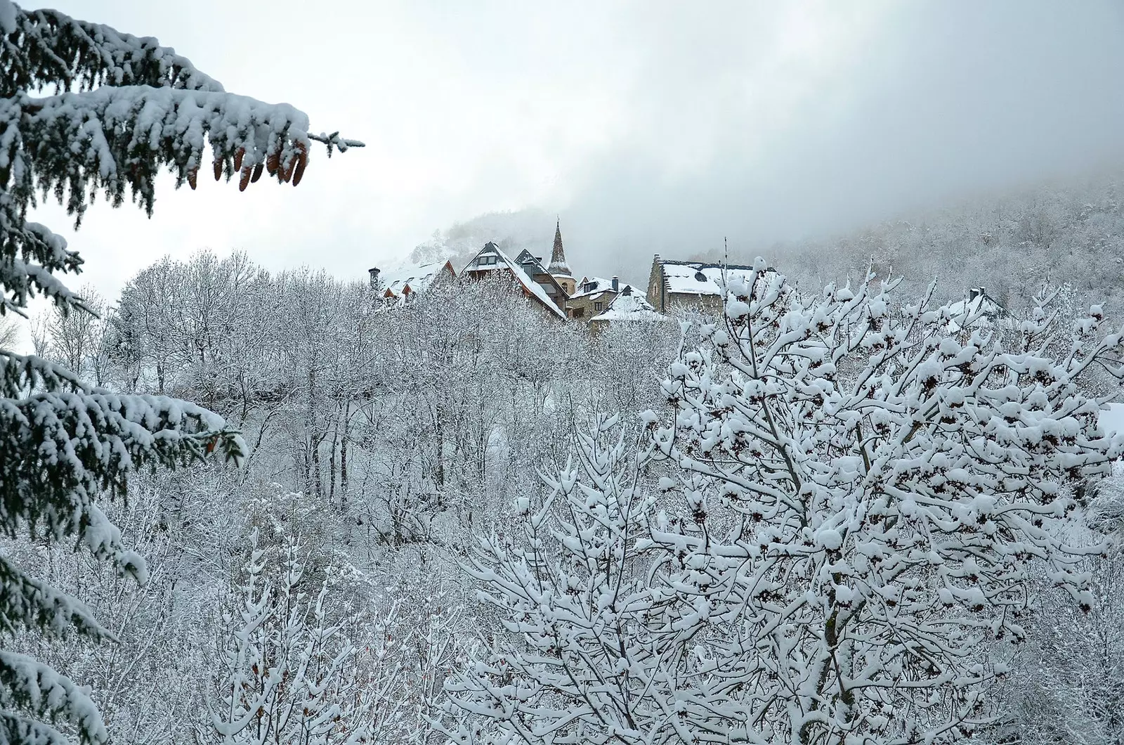
[[[1124,440],[1078,378],[1120,377],[1122,338],[1094,312],[1061,361],[1005,353],[889,299],[801,297],[760,260],[732,282],[725,323],[670,368],[672,421],[644,418],[652,458],[587,438],[583,468],[482,545],[510,636],[447,686],[450,734],[904,744],[987,722],[1004,667],[978,650],[1024,637],[1030,583],[1091,603],[1102,546],[1071,528]]]

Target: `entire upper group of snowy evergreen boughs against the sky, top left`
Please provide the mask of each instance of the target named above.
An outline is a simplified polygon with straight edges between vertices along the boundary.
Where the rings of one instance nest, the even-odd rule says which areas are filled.
[[[165,167],[191,188],[209,147],[216,179],[246,186],[268,172],[299,183],[315,138],[361,147],[338,133],[310,136],[308,117],[287,104],[227,93],[153,38],[120,34],[51,10],[0,0],[0,280],[4,309],[35,291],[74,300],[53,272],[81,260],[46,227],[27,223],[37,195],[66,206],[75,222],[102,191],[126,191],[152,214],[154,179]],[[42,91],[52,95],[43,96]]]

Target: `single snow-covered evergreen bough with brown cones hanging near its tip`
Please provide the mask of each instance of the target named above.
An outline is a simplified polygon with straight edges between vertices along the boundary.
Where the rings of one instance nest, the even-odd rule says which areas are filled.
[[[208,144],[216,178],[239,172],[242,189],[265,169],[299,183],[308,160],[305,114],[233,93],[134,86],[21,95],[0,101],[0,186],[10,177],[17,199],[27,200],[35,191],[65,192],[79,219],[99,189],[114,205],[129,189],[151,213],[161,168],[172,167],[178,186],[194,187]]]

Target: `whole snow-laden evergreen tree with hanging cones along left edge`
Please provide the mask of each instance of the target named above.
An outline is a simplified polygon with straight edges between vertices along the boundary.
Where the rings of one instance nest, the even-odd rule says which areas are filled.
[[[268,172],[297,185],[314,140],[329,155],[361,145],[309,135],[307,117],[290,106],[225,92],[153,38],[0,0],[0,314],[22,314],[36,294],[89,312],[60,278],[80,270],[78,253],[27,219],[40,199],[65,205],[75,226],[99,191],[119,206],[128,190],[151,214],[160,170],[194,188],[208,145],[216,179],[237,173],[245,189]],[[0,530],[9,537],[75,540],[143,582],[143,559],[123,546],[97,499],[123,495],[143,464],[174,466],[216,449],[237,461],[244,448],[199,406],[116,395],[0,351]],[[111,638],[82,603],[0,555],[0,632],[20,628]],[[64,730],[83,743],[108,738],[79,685],[0,649],[0,745],[61,744]]]

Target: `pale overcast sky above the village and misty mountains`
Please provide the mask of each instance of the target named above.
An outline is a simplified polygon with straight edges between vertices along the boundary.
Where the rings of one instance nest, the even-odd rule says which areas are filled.
[[[201,246],[362,277],[526,207],[561,215],[575,272],[643,278],[654,251],[847,231],[1124,151],[1114,0],[45,5],[368,145],[316,151],[296,189],[169,180],[152,219],[40,213],[107,294]]]

